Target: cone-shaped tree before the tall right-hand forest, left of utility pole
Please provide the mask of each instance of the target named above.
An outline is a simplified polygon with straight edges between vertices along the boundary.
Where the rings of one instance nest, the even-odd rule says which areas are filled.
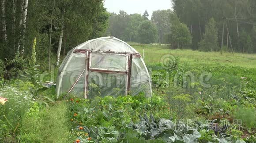
[[[200,50],[216,51],[218,50],[218,29],[214,18],[211,18],[205,26],[205,34],[200,42]]]

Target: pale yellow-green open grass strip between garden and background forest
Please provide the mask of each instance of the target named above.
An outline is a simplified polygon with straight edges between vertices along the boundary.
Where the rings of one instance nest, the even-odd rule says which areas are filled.
[[[145,50],[145,63],[159,63],[162,56],[171,54],[180,57],[181,62],[188,64],[207,64],[212,66],[241,66],[256,68],[256,54],[223,53],[220,52],[200,52],[193,50],[170,50],[167,46],[129,43],[142,55]]]

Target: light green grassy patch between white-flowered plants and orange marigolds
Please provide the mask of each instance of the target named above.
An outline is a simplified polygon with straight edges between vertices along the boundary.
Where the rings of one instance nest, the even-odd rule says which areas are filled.
[[[61,101],[49,108],[42,108],[22,122],[22,143],[68,143],[68,107]]]

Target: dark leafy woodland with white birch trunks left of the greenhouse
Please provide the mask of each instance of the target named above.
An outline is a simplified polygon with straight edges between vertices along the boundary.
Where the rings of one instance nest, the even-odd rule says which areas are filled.
[[[103,0],[0,0],[0,59],[29,58],[34,38],[37,59],[47,65],[60,54],[103,36],[109,13]],[[57,55],[57,56],[56,56]]]

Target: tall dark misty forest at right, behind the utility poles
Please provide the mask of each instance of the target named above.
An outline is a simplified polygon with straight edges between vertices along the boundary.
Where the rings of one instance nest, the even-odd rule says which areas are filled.
[[[255,0],[171,0],[171,2],[177,17],[190,30],[191,49],[204,51],[233,49],[235,52],[256,53]]]

